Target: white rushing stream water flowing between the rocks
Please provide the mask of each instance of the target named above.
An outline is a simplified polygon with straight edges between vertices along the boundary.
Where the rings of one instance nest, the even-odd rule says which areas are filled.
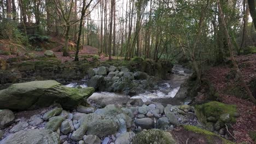
[[[185,72],[187,73],[185,73]],[[188,104],[190,101],[182,101],[180,103],[179,101],[173,101],[173,98],[179,91],[179,88],[181,87],[181,84],[188,79],[190,74],[188,74],[190,70],[183,68],[181,65],[174,65],[172,74],[168,77],[167,80],[161,80],[158,82],[158,88],[154,90],[149,90],[144,93],[134,95],[133,97],[130,97],[129,95],[119,94],[119,93],[111,93],[111,92],[95,92],[91,95],[89,99],[96,100],[96,99],[105,99],[107,100],[113,100],[113,99],[142,99],[143,102],[146,101],[154,101],[157,103],[162,104]],[[79,82],[75,83],[69,83],[66,85],[67,87],[87,87],[88,80],[83,79]],[[111,101],[109,101],[111,104]],[[113,102],[112,102],[113,103]]]

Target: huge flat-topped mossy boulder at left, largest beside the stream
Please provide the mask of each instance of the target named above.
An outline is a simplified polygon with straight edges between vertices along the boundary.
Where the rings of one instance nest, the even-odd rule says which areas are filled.
[[[0,109],[37,109],[55,102],[73,109],[93,92],[92,87],[69,88],[53,80],[16,83],[0,91]]]

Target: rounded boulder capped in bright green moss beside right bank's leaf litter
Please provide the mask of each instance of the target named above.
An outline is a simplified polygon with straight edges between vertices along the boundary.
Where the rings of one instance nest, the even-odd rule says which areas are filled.
[[[238,116],[236,112],[236,105],[227,105],[218,101],[211,101],[202,105],[196,105],[195,112],[197,118],[203,124],[211,122],[211,119],[213,118],[223,123],[234,123]]]

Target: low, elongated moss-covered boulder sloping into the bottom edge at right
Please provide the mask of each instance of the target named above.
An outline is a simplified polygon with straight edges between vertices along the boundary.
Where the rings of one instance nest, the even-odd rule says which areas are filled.
[[[201,137],[201,136],[206,137],[206,143],[223,143],[223,144],[234,143],[229,140],[223,139],[222,137],[220,137],[217,134],[212,133],[211,131],[201,129],[201,128],[195,127],[193,125],[183,125],[183,128],[189,132],[192,132],[193,135],[197,134],[197,137]]]

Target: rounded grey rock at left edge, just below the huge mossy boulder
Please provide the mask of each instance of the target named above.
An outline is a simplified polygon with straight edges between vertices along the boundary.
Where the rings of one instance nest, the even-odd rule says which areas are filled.
[[[4,129],[11,124],[14,121],[14,118],[15,116],[11,110],[0,110],[0,129]]]

